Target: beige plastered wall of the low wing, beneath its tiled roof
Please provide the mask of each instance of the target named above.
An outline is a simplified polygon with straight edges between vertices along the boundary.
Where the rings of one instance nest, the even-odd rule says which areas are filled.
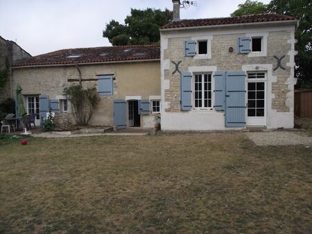
[[[125,96],[160,96],[160,62],[124,62],[115,64],[79,65],[83,87],[97,87],[98,75],[114,74],[114,95],[101,96],[101,101],[90,120],[90,125],[113,125],[113,100],[125,100]],[[15,68],[12,71],[13,87],[20,84],[24,96],[49,95],[50,99],[61,96],[64,87],[78,82],[69,82],[79,78],[75,66],[42,66]]]

